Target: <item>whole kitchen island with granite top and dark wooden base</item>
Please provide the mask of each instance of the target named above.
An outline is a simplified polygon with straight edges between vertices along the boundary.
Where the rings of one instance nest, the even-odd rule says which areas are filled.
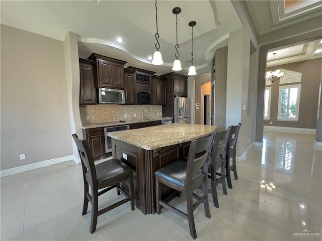
[[[144,214],[155,213],[154,172],[185,155],[190,141],[208,136],[217,127],[194,124],[169,124],[122,132],[111,132],[113,158],[134,169],[135,206]],[[122,185],[127,189],[127,184]],[[162,186],[163,198],[172,189]]]

